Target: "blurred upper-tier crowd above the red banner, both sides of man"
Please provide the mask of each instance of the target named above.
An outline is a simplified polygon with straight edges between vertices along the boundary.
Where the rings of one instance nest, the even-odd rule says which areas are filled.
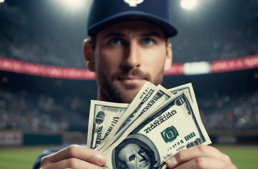
[[[85,68],[79,41],[45,36],[30,31],[28,19],[19,8],[0,6],[0,56],[45,65]],[[173,63],[212,61],[258,53],[257,26],[241,25],[210,34],[191,31],[172,39]],[[85,30],[86,32],[86,30]],[[194,45],[193,45],[194,44]]]

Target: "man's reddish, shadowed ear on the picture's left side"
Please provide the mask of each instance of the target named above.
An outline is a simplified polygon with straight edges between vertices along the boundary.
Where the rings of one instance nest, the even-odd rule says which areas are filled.
[[[83,45],[82,45],[82,50],[83,50],[84,61],[87,65],[87,68],[90,71],[95,71],[93,50],[92,50],[91,44],[88,41],[88,39],[84,39]]]

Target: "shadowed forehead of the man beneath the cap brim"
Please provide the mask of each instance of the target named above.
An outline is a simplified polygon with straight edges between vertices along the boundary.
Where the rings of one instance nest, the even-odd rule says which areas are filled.
[[[111,25],[99,32],[98,36],[126,36],[128,34],[136,34],[137,36],[165,36],[164,32],[156,25],[139,21],[128,21]]]

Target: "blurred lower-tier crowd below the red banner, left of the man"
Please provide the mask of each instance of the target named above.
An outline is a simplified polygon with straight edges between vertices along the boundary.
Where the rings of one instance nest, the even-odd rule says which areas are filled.
[[[85,101],[76,96],[54,99],[26,90],[0,90],[0,130],[69,130],[85,116],[85,107]]]

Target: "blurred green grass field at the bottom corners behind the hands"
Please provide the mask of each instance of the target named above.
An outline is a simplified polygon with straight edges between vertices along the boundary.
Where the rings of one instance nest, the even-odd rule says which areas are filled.
[[[214,145],[214,147],[227,154],[238,169],[258,168],[258,145]],[[45,148],[46,146],[1,147],[0,169],[31,168],[36,157]]]

